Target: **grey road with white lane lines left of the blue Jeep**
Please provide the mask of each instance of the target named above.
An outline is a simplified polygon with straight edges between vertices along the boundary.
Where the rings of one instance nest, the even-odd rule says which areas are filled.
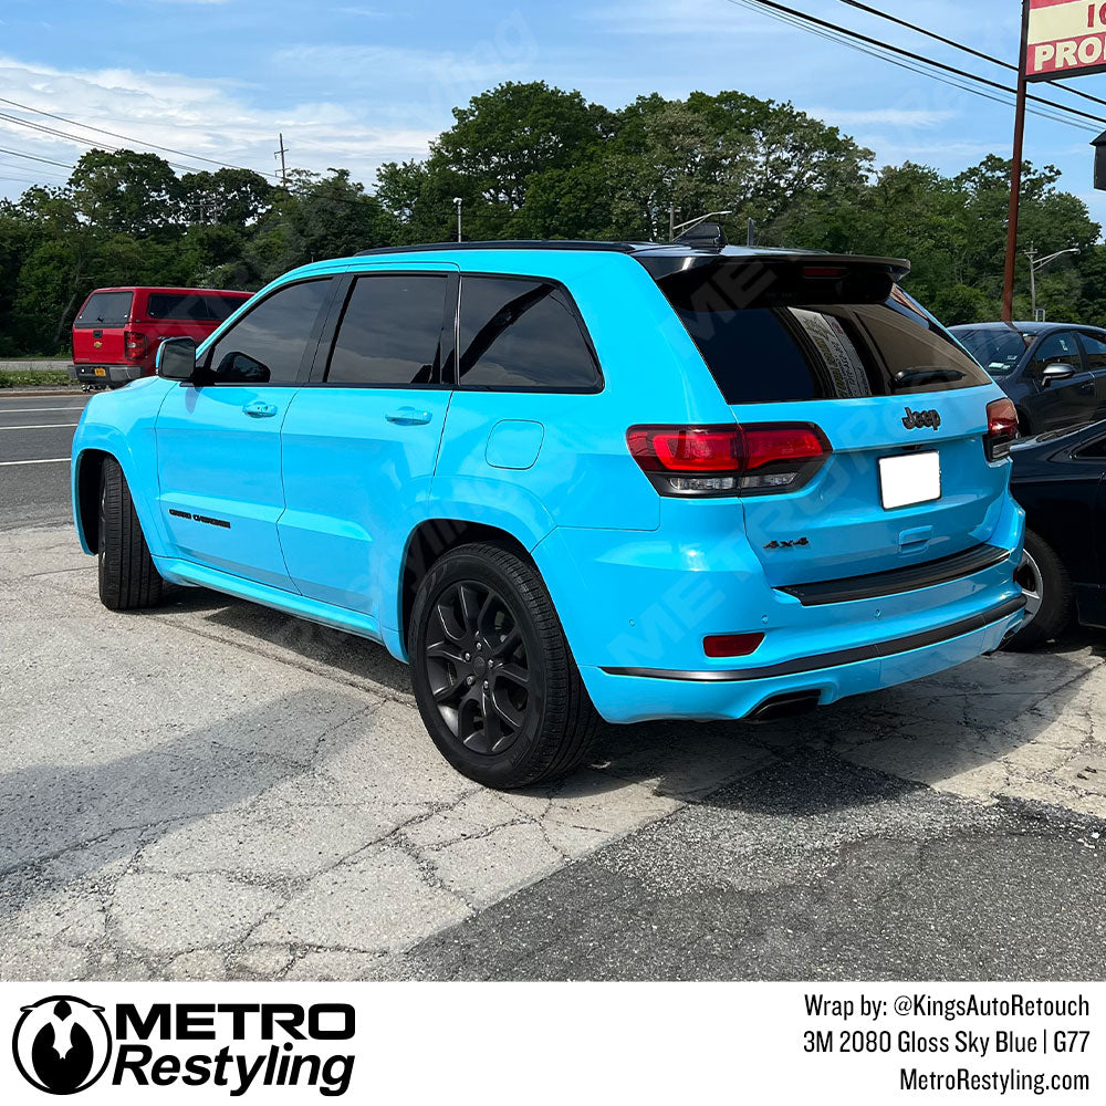
[[[69,518],[69,455],[82,393],[0,392],[0,531]]]

